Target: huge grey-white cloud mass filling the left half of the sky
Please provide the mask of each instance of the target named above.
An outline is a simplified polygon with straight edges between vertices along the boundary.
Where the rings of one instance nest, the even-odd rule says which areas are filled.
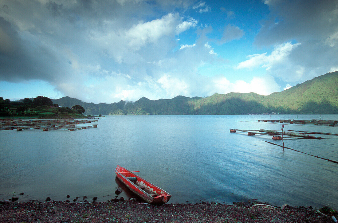
[[[200,63],[190,61],[190,56],[174,58],[194,54],[192,51],[172,54],[177,46],[175,35],[195,27],[197,21],[171,11],[185,10],[191,1],[4,3],[6,6],[0,5],[1,39],[7,37],[7,42],[2,41],[0,80],[39,79],[73,97],[135,100],[186,92],[183,88],[189,88],[188,84],[182,85],[183,90],[167,93],[173,89],[161,88],[158,80],[164,77],[175,83],[188,75],[183,72],[188,63],[194,67]],[[204,43],[194,50],[204,53],[200,58],[209,59],[210,49]],[[180,76],[182,73],[185,76]],[[97,89],[102,89],[100,95],[93,94]]]

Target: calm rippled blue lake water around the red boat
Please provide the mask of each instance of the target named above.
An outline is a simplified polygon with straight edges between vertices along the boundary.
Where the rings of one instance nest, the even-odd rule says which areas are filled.
[[[108,116],[97,128],[73,132],[0,131],[0,199],[67,200],[69,194],[69,200],[86,195],[89,201],[95,196],[107,201],[115,198],[114,172],[120,165],[172,194],[169,203],[258,199],[338,208],[337,164],[264,142],[273,142],[271,137],[229,132],[281,129],[258,119],[270,115]],[[288,124],[287,129],[338,133],[338,127],[328,126]],[[338,161],[338,139],[286,140],[285,146]]]

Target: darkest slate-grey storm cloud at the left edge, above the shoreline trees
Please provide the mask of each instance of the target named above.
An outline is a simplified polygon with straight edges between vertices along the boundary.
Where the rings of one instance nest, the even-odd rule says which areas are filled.
[[[41,79],[54,81],[52,74],[59,74],[60,64],[55,54],[40,40],[26,34],[25,40],[13,26],[0,17],[0,79],[20,81]]]

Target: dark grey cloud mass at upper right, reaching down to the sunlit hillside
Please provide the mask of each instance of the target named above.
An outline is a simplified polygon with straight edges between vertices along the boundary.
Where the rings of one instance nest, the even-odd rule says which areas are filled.
[[[270,19],[255,39],[260,47],[300,43],[288,55],[288,64],[267,72],[286,81],[301,82],[338,69],[338,1],[266,0]]]

